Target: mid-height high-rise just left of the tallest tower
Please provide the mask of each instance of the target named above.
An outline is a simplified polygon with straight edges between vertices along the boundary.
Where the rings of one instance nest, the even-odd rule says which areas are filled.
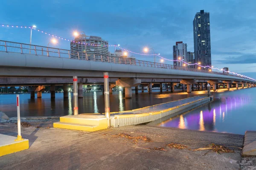
[[[176,45],[173,45],[173,60],[183,60],[187,61],[187,44],[184,44],[182,41],[176,42]],[[183,62],[174,61],[173,65],[182,66]]]

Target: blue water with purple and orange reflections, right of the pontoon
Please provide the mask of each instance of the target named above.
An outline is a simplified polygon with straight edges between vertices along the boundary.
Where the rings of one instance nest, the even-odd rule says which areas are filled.
[[[249,90],[250,93],[247,92]],[[214,95],[211,105],[203,105],[159,126],[238,134],[244,134],[246,130],[256,130],[256,88]],[[184,120],[187,120],[186,126]]]

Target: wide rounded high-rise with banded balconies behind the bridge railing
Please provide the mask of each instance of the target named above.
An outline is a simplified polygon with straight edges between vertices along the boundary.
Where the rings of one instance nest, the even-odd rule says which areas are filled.
[[[70,50],[72,53],[71,58],[78,59],[78,54],[76,52],[79,52],[79,59],[86,59],[85,54],[87,54],[88,60],[99,60],[102,58],[105,61],[106,57],[108,56],[108,41],[96,36],[90,36],[85,40],[84,35],[81,34],[76,37],[74,41],[70,42]]]

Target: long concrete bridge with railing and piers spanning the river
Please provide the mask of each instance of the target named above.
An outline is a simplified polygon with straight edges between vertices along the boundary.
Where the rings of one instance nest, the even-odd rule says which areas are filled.
[[[93,44],[92,44],[93,45]],[[0,40],[0,86],[7,85],[51,85],[54,97],[55,85],[63,85],[64,97],[67,97],[67,84],[73,83],[73,76],[78,76],[79,97],[82,97],[83,84],[102,84],[103,72],[109,73],[110,84],[125,88],[125,98],[131,98],[131,87],[138,91],[138,85],[148,86],[162,83],[171,86],[181,83],[183,91],[191,93],[197,84],[204,90],[209,83],[216,90],[218,84],[254,87],[256,81],[233,74],[218,73],[211,70],[174,66],[164,63],[148,62],[129,57],[87,56],[85,52],[50,48]],[[110,87],[114,87],[111,85]],[[31,95],[35,96],[35,88]],[[41,96],[42,89],[37,91]]]

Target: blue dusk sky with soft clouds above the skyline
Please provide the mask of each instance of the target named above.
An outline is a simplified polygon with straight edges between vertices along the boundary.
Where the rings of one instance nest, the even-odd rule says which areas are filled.
[[[255,0],[6,0],[1,2],[0,24],[35,24],[69,39],[73,31],[84,31],[135,52],[154,48],[172,59],[176,41],[194,51],[192,21],[204,9],[210,12],[212,65],[256,78],[255,6]],[[29,35],[29,29],[0,27],[0,40],[29,43]],[[46,46],[49,41],[49,36],[33,31],[32,44]],[[70,44],[60,40],[55,47],[70,49]]]

